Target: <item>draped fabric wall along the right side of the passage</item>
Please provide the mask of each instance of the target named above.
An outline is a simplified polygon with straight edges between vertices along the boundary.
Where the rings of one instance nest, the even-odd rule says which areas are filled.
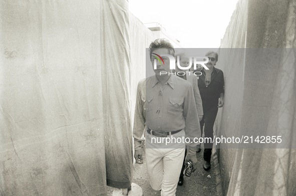
[[[295,10],[295,1],[239,0],[221,41],[225,104],[217,136],[259,130],[290,140],[271,149],[227,149],[221,143],[220,195],[296,194]]]

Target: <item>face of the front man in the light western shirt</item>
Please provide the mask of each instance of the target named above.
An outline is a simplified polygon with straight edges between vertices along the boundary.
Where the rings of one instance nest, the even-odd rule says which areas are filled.
[[[153,51],[153,53],[156,53],[158,55],[160,55],[160,54],[169,54],[169,50],[167,48],[158,48],[158,49],[155,49]],[[163,62],[161,60],[160,61],[157,60],[157,58],[155,57],[154,54],[152,54],[152,57],[151,57],[152,67],[154,65],[154,59],[156,60],[156,69],[153,68],[156,75],[160,75],[160,71],[166,71],[167,73],[170,72],[170,60],[169,60],[169,57],[167,57],[167,56],[161,56],[161,57],[162,57],[162,59],[164,61],[164,64],[163,64]],[[164,75],[164,73],[162,72],[161,75]]]

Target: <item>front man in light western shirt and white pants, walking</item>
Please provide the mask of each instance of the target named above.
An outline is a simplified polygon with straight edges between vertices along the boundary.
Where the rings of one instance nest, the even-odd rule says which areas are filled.
[[[200,126],[195,98],[190,82],[170,72],[169,58],[174,56],[172,44],[156,39],[150,44],[152,64],[157,59],[155,75],[139,81],[134,118],[133,136],[136,162],[143,163],[143,130],[146,132],[146,164],[150,184],[161,195],[175,195],[184,159],[185,142],[156,143],[153,139],[189,138],[186,161],[196,169],[195,137],[200,136]],[[157,57],[158,56],[158,57]],[[158,60],[161,57],[162,60]],[[166,74],[160,73],[166,72]]]

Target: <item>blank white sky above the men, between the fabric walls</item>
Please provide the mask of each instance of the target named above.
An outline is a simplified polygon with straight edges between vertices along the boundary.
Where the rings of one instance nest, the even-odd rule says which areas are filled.
[[[143,23],[158,22],[183,47],[219,47],[238,0],[129,0]]]

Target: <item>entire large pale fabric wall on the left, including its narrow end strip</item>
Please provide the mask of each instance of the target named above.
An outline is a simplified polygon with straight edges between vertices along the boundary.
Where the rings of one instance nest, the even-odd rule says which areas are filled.
[[[0,23],[0,195],[128,187],[128,2],[3,0]]]

